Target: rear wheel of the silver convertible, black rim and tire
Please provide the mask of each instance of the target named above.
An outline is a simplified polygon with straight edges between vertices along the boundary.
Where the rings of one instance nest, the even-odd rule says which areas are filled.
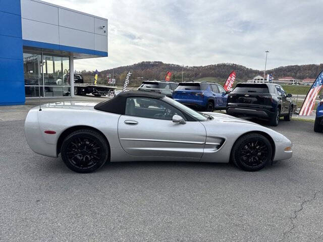
[[[109,158],[109,145],[96,131],[84,129],[73,132],[63,141],[61,155],[71,170],[89,173],[102,167]]]

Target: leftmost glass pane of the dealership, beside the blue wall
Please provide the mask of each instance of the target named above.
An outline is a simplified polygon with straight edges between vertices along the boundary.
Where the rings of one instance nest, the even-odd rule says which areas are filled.
[[[25,85],[38,86],[42,84],[41,54],[23,53]]]

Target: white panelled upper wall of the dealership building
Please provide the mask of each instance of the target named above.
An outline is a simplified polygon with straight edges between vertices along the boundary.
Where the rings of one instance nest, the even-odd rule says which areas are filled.
[[[106,19],[39,0],[21,0],[21,17],[25,40],[107,52]]]

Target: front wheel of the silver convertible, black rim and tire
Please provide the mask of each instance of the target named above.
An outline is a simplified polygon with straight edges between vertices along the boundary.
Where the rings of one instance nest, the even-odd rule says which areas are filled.
[[[273,148],[267,138],[260,134],[247,134],[234,144],[231,161],[243,170],[257,171],[271,161],[272,153]]]

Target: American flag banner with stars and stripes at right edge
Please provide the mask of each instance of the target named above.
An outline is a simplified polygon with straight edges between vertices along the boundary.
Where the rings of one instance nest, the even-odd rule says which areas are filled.
[[[317,97],[317,94],[321,90],[322,85],[323,85],[323,71],[318,75],[311,89],[309,89],[309,92],[305,97],[305,100],[303,102],[299,115],[303,115],[303,116],[311,115],[315,106],[315,99]]]

